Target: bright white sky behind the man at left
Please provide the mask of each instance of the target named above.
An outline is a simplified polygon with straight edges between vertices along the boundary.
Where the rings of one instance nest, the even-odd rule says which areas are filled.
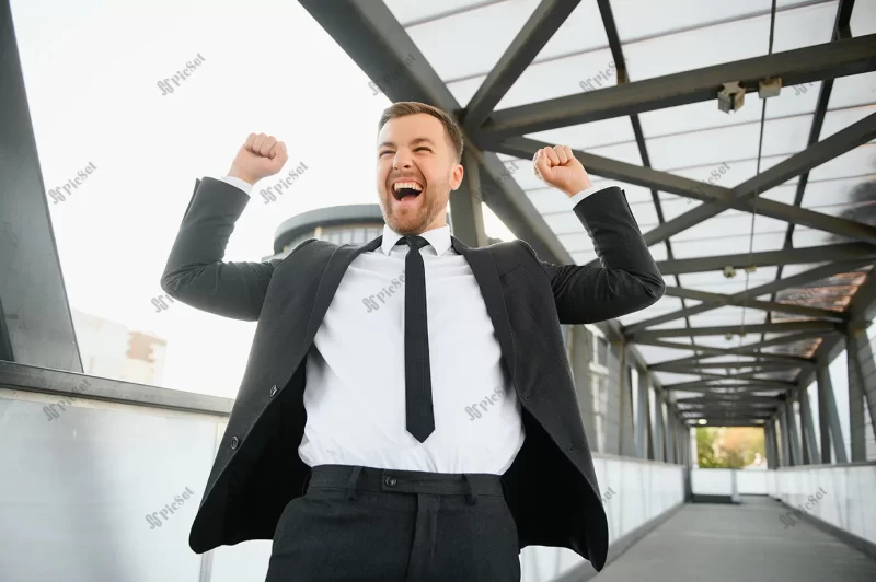
[[[221,177],[251,132],[306,172],[276,202],[257,190],[226,260],[261,260],[277,225],[314,208],[376,202],[374,139],[390,102],[298,2],[12,0],[12,15],[70,305],[168,340],[162,386],[233,397],[254,323],[152,298],[203,176]],[[197,55],[204,62],[163,95]],[[174,85],[175,86],[175,85]],[[486,208],[489,236],[511,238]]]

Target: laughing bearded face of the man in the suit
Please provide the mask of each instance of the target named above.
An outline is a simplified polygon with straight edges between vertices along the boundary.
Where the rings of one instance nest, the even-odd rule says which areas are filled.
[[[399,234],[422,234],[447,223],[450,190],[462,166],[441,121],[428,114],[390,119],[377,149],[377,191],[383,220]]]

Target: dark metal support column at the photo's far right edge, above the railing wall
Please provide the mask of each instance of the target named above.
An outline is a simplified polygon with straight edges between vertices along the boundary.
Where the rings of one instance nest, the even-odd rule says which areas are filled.
[[[865,328],[856,327],[848,331],[845,356],[849,362],[849,429],[854,463],[867,459],[865,406],[876,439],[876,370]]]

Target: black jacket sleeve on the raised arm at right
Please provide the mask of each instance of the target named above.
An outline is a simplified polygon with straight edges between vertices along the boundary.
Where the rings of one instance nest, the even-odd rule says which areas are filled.
[[[575,206],[575,214],[593,241],[601,267],[539,261],[553,289],[561,324],[612,319],[656,303],[666,283],[650,256],[626,196],[611,187]]]

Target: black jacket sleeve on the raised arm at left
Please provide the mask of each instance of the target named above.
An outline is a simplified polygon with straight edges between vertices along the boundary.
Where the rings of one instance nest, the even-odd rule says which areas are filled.
[[[205,177],[197,181],[161,276],[161,289],[193,307],[253,322],[258,319],[274,269],[281,259],[223,263],[234,222],[250,197]]]

